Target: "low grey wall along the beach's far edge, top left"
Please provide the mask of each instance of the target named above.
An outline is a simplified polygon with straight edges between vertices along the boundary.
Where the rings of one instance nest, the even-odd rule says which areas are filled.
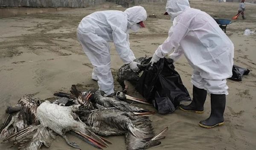
[[[106,0],[0,0],[1,7],[88,7]]]

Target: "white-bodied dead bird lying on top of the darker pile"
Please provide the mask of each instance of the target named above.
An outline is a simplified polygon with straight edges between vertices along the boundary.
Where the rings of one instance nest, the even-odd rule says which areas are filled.
[[[87,102],[87,100],[84,100],[81,93],[77,93],[78,91],[75,92],[78,94],[78,105],[60,106],[50,103],[49,101],[43,102],[37,109],[38,120],[41,122],[41,125],[48,127],[58,135],[62,136],[67,144],[74,148],[80,149],[76,142],[70,142],[67,139],[67,136],[65,136],[65,133],[69,130],[78,133],[87,140],[93,141],[94,144],[101,144],[106,147],[107,143],[102,140],[101,137],[93,133],[93,131],[97,130],[96,128],[88,127],[84,123],[75,120],[77,118],[75,112],[79,110],[79,107],[83,106],[87,108],[90,105],[84,105],[84,102]],[[90,106],[88,108],[90,108]]]

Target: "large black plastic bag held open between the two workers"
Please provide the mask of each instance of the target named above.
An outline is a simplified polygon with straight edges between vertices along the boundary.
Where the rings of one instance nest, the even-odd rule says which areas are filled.
[[[162,114],[172,113],[181,101],[191,101],[172,59],[162,58],[153,66],[148,65],[135,88]]]

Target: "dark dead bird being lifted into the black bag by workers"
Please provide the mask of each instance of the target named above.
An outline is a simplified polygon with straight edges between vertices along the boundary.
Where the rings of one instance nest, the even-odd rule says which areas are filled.
[[[129,65],[122,65],[121,68],[117,71],[117,81],[122,86],[122,92],[126,93],[127,85],[125,85],[125,80],[131,82],[132,85],[136,85],[137,81],[140,79],[140,72],[148,65],[152,57],[140,57],[134,59],[135,62],[139,62],[141,65],[138,65],[140,71],[135,73],[131,70]]]

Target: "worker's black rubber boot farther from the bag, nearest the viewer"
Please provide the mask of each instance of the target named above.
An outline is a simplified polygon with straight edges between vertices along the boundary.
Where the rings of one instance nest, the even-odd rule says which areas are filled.
[[[201,127],[212,128],[217,125],[224,125],[224,110],[226,105],[226,95],[211,94],[211,115],[206,120],[200,121]]]

